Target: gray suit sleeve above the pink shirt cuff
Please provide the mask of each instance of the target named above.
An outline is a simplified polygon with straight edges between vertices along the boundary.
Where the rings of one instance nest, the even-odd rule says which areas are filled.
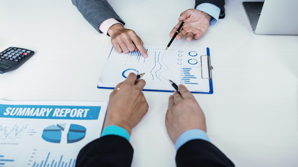
[[[106,0],[71,1],[73,1],[73,5],[77,6],[77,9],[82,13],[84,18],[100,33],[103,32],[98,29],[98,26],[106,19],[114,18],[122,24],[125,24]]]

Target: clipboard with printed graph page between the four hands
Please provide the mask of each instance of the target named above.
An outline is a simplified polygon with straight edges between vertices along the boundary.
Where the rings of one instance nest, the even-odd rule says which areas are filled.
[[[146,81],[144,90],[174,91],[169,79],[184,84],[195,93],[209,93],[209,61],[207,48],[144,46],[148,57],[140,51],[128,54],[111,50],[110,56],[98,81],[98,88],[114,88],[124,81],[129,73],[141,74]],[[208,52],[208,53],[207,53]]]

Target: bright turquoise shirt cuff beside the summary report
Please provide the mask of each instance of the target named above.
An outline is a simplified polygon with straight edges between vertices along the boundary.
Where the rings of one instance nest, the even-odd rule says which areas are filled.
[[[117,135],[117,136],[126,138],[127,141],[129,141],[129,137],[130,137],[126,129],[122,127],[118,127],[116,125],[110,125],[105,127],[105,129],[103,129],[103,133],[101,134],[101,137],[107,136],[107,135]]]

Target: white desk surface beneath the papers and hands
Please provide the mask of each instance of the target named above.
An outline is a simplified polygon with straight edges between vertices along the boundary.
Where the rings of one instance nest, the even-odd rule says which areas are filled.
[[[0,100],[107,101],[96,88],[112,47],[70,0],[0,0],[0,49],[36,51],[18,70],[0,74]],[[194,1],[110,1],[146,45],[167,45],[179,14]],[[144,7],[146,6],[146,7]],[[298,36],[255,35],[241,1],[198,41],[209,47],[214,94],[195,95],[207,134],[236,166],[298,166]],[[135,127],[133,166],[175,166],[165,129],[170,93],[144,92],[147,116]]]

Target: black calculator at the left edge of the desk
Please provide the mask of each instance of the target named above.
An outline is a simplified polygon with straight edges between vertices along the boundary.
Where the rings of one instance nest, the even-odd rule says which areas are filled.
[[[33,56],[34,51],[20,47],[8,47],[0,53],[0,74],[15,70]]]

